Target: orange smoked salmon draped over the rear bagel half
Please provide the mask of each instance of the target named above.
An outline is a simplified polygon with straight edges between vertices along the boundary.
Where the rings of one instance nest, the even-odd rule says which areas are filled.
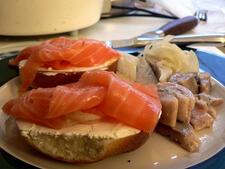
[[[18,65],[21,60],[27,59],[20,70],[21,92],[23,92],[31,85],[39,68],[66,70],[75,67],[93,67],[119,58],[120,54],[103,42],[59,37],[25,48],[10,63]]]

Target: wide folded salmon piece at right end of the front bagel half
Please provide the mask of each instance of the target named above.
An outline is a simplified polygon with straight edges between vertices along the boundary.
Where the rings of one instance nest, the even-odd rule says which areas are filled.
[[[99,105],[105,115],[146,132],[156,126],[161,115],[156,86],[129,83],[107,71],[87,72],[80,82],[107,87],[105,98]]]

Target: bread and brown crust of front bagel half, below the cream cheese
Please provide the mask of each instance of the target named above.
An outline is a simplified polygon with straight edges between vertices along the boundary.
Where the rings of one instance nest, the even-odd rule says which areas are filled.
[[[45,127],[38,130],[37,127],[40,126],[25,125],[30,126],[28,128],[24,127],[23,123],[27,122],[19,121],[17,126],[29,145],[54,159],[71,163],[91,163],[129,152],[140,147],[149,137],[149,134],[129,126],[116,127],[118,130],[113,133],[109,131],[110,135],[92,135],[76,131],[58,132],[55,129],[47,132],[43,130]],[[104,128],[105,124],[101,125]]]

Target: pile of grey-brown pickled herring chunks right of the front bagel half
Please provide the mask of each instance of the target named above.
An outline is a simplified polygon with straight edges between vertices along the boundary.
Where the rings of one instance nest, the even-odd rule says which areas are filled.
[[[172,82],[158,83],[157,86],[162,115],[156,131],[178,142],[187,151],[198,151],[201,142],[197,141],[194,133],[213,126],[216,118],[214,107],[222,104],[223,99],[206,93],[194,95],[188,88]],[[180,124],[179,130],[177,124]]]

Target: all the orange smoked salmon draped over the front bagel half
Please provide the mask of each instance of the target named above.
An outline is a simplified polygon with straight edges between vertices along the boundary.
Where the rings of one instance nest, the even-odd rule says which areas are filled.
[[[127,82],[113,72],[98,70],[85,72],[76,83],[28,91],[6,103],[3,111],[53,128],[65,126],[70,113],[100,112],[151,132],[160,118],[161,104],[156,86]]]

